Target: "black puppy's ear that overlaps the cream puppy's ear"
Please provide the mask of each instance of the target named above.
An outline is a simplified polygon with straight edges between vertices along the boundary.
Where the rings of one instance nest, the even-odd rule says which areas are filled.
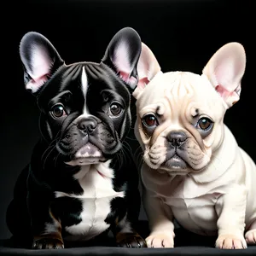
[[[137,62],[141,50],[142,42],[138,33],[131,27],[125,27],[113,36],[102,62],[134,89],[138,81]]]

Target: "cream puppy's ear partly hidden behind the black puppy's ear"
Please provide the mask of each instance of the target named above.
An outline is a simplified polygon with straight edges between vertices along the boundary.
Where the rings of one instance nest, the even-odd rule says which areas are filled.
[[[146,44],[142,43],[142,52],[137,63],[138,83],[132,95],[137,99],[145,86],[159,72],[161,72],[161,68],[153,52]]]

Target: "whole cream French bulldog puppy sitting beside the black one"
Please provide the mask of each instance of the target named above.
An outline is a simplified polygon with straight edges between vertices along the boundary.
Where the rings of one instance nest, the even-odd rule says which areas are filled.
[[[174,246],[174,218],[187,230],[218,236],[218,248],[255,244],[256,167],[224,125],[240,98],[245,66],[243,46],[230,43],[201,75],[163,73],[143,44],[133,95],[148,247]]]

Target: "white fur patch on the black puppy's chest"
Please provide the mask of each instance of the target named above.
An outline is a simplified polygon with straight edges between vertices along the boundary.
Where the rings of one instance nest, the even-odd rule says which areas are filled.
[[[81,170],[74,175],[84,190],[82,195],[55,192],[55,197],[69,196],[82,201],[83,211],[80,214],[82,221],[79,224],[66,227],[67,232],[73,236],[68,240],[89,240],[107,230],[109,224],[105,222],[110,209],[110,201],[115,197],[124,197],[125,192],[113,190],[113,170],[109,162],[81,166]]]

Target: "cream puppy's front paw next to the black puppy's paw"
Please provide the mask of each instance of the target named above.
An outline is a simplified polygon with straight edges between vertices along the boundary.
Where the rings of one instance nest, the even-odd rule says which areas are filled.
[[[161,247],[169,247],[172,248],[174,246],[173,235],[166,235],[164,233],[154,234],[148,236],[146,238],[147,246],[154,247],[154,248],[161,248]]]

